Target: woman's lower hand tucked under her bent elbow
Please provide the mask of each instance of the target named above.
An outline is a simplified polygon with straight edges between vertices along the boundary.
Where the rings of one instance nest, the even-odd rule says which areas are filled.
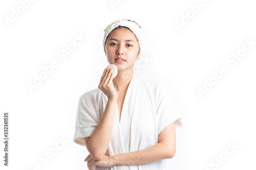
[[[87,161],[87,167],[90,170],[93,170],[93,167],[95,165],[100,166],[100,167],[111,167],[113,166],[111,160],[110,160],[110,156],[105,156],[100,160],[100,161],[96,161],[94,160],[91,155],[89,154],[86,159],[84,159],[84,162]]]

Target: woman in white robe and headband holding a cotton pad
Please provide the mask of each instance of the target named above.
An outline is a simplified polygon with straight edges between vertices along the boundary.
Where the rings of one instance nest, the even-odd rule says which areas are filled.
[[[87,147],[89,169],[167,169],[181,116],[163,85],[133,74],[143,51],[141,28],[121,19],[104,32],[106,59],[118,74],[104,69],[98,88],[81,95],[73,141]]]

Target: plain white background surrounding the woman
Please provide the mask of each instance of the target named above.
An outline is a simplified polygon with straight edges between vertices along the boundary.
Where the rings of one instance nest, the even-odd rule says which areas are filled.
[[[112,8],[109,0],[35,1],[8,24],[6,18],[22,5],[1,1],[0,131],[3,139],[3,116],[9,112],[10,137],[8,167],[3,165],[4,143],[0,144],[1,169],[33,169],[36,164],[38,169],[87,169],[86,147],[72,141],[76,109],[81,94],[97,88],[109,64],[103,53],[103,29],[117,19],[140,25],[150,61],[136,74],[168,87],[183,116],[169,169],[255,169],[253,1],[205,0],[179,31],[175,22],[182,23],[188,13],[192,16],[189,6],[200,1],[114,2],[119,3]],[[57,53],[73,42],[75,34],[87,39],[61,61]],[[254,44],[231,65],[227,58],[243,49],[245,39]],[[30,92],[27,83],[54,60],[58,67]],[[223,65],[229,71],[201,98],[197,88],[204,88],[204,80],[214,80],[212,71]],[[62,139],[66,143],[54,149]],[[238,148],[232,150],[228,143]],[[51,159],[45,156],[50,151],[57,151]],[[218,157],[221,163],[214,160]]]

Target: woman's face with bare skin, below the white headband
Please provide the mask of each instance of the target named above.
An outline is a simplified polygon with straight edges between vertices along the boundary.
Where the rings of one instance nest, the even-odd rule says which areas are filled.
[[[132,31],[121,27],[109,34],[105,50],[109,64],[116,65],[118,70],[124,70],[134,65],[139,54],[139,42]],[[125,61],[118,62],[116,59],[119,57]]]

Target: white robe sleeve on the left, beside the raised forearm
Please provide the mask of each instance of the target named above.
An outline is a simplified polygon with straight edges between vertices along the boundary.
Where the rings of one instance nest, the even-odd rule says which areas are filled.
[[[76,126],[73,141],[77,144],[86,146],[84,137],[92,135],[99,125],[98,106],[93,95],[90,93],[83,94],[78,102],[76,114]]]

